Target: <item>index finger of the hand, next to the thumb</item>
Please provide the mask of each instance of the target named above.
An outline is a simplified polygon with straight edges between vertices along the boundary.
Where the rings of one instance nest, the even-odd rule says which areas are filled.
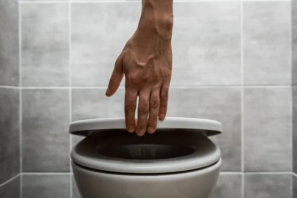
[[[126,129],[132,133],[135,131],[135,110],[137,102],[137,90],[126,88],[125,91],[125,122]]]

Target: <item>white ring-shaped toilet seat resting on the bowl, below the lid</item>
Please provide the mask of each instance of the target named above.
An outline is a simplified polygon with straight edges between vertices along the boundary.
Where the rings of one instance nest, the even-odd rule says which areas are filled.
[[[73,162],[82,167],[100,171],[157,174],[201,169],[217,163],[221,158],[220,149],[203,135],[201,135],[198,141],[195,141],[197,145],[203,144],[203,148],[184,156],[157,160],[123,159],[105,156],[97,152],[97,147],[100,145],[98,141],[99,139],[94,137],[86,138],[78,143],[71,150]]]

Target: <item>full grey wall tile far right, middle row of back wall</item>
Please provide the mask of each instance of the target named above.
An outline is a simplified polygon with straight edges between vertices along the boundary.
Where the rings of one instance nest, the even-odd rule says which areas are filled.
[[[291,171],[291,89],[244,90],[245,171]]]

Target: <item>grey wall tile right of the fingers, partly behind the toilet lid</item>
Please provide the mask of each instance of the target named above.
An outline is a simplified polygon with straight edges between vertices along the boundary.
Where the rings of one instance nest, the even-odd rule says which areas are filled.
[[[224,133],[211,137],[222,151],[222,171],[241,170],[241,91],[238,88],[171,89],[167,116],[214,119]]]

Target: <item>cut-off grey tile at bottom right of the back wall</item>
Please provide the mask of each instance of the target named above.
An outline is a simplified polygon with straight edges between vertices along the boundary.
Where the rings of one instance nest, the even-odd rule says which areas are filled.
[[[245,175],[245,198],[292,198],[292,176]]]

